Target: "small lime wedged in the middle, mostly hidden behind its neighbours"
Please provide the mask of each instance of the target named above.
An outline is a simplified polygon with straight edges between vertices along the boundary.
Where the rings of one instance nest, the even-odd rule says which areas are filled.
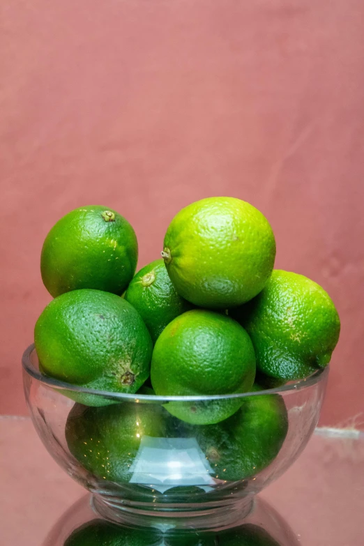
[[[192,308],[177,294],[162,259],[138,271],[124,297],[139,312],[154,343],[170,321]]]

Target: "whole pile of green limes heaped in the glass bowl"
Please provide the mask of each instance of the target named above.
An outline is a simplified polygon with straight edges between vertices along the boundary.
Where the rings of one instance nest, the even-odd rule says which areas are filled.
[[[106,477],[125,482],[144,435],[179,434],[197,439],[216,478],[252,476],[280,450],[287,410],[276,393],[226,395],[325,367],[338,312],[312,280],[273,269],[271,226],[240,199],[183,208],[161,255],[135,273],[134,229],[104,206],[71,211],[45,238],[41,273],[54,300],[35,327],[40,371],[90,390],[199,397],[140,404],[136,416],[130,402],[62,390],[77,402],[66,425],[70,451],[98,476],[107,459]],[[101,446],[98,456],[89,442]]]

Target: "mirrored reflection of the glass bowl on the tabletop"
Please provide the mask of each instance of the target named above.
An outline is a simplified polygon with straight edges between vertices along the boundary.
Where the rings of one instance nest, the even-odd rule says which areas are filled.
[[[222,524],[213,531],[190,529],[186,532],[183,529],[176,529],[170,522],[169,524],[160,524],[156,521],[153,528],[149,526],[149,522],[146,527],[144,525],[144,529],[146,529],[144,535],[139,533],[143,527],[119,525],[116,529],[113,524],[100,520],[98,513],[93,508],[91,496],[85,495],[59,518],[47,534],[42,546],[66,546],[70,537],[76,537],[81,529],[85,533],[88,529],[94,533],[100,528],[105,533],[104,538],[108,531],[109,538],[125,536],[130,540],[135,536],[135,543],[138,543],[139,546],[173,546],[176,543],[183,544],[183,546],[200,546],[211,543],[213,546],[219,543],[224,544],[229,540],[238,545],[259,543],[265,546],[299,546],[300,544],[297,536],[280,514],[270,504],[259,498],[253,502],[249,514],[234,522],[233,527]],[[248,542],[248,538],[250,538],[250,542]],[[74,544],[76,543],[75,540]],[[81,543],[82,541],[79,540],[77,544]]]

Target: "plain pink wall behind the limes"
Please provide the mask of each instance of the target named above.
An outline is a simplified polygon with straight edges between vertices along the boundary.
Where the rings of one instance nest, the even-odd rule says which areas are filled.
[[[84,204],[156,259],[176,211],[252,202],[276,266],[342,318],[322,423],[364,424],[362,0],[3,0],[0,411],[24,406],[20,356],[48,301],[43,238]]]

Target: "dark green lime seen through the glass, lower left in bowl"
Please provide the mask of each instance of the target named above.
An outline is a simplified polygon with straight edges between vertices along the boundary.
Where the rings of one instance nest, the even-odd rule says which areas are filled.
[[[135,472],[140,475],[137,457],[140,460],[143,448],[148,448],[151,439],[165,437],[166,415],[158,404],[75,404],[66,423],[68,448],[98,479],[128,483]],[[149,464],[142,462],[142,472],[149,472]]]

